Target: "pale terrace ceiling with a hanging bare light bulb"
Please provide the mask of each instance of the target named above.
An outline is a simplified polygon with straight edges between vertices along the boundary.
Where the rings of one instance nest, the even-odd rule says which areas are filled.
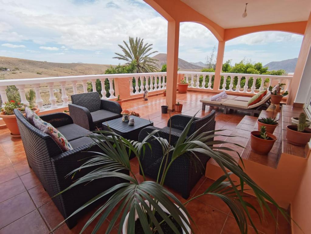
[[[311,0],[181,0],[223,28],[307,21]],[[245,3],[247,17],[242,18]]]

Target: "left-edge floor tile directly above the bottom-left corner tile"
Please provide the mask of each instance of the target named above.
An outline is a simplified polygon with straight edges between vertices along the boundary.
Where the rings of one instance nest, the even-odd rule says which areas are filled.
[[[35,205],[27,192],[0,203],[0,228],[7,226],[33,210],[35,210]]]

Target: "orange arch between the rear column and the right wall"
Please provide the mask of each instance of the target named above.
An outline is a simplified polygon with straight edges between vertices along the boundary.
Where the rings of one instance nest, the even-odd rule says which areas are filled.
[[[283,31],[304,35],[306,26],[307,21],[298,21],[278,24],[266,24],[251,27],[228,28],[225,29],[224,41],[229,41],[239,36],[261,31]]]

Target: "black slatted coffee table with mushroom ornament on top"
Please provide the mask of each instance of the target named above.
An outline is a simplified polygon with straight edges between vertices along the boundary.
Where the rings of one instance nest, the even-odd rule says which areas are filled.
[[[123,136],[128,140],[138,141],[138,134],[140,130],[147,126],[153,126],[153,122],[136,116],[130,117],[134,119],[134,125],[132,126],[129,126],[128,122],[122,122],[122,118],[117,118],[103,122],[103,130],[107,131],[107,126],[109,125],[110,129],[118,135]]]

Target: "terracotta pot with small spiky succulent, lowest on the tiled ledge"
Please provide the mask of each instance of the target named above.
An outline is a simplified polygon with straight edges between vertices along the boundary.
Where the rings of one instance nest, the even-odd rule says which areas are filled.
[[[258,136],[260,136],[260,131],[251,132],[251,148],[255,153],[260,155],[267,155],[270,152],[277,138],[271,133],[267,133],[267,135],[272,140],[264,140],[259,138]]]

